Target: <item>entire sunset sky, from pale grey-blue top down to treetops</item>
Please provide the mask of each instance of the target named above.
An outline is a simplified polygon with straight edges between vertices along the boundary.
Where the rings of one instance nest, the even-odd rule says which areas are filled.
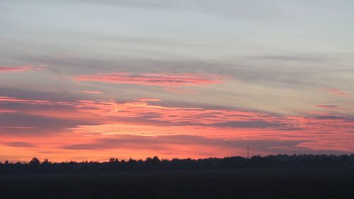
[[[354,1],[1,0],[0,161],[354,152]]]

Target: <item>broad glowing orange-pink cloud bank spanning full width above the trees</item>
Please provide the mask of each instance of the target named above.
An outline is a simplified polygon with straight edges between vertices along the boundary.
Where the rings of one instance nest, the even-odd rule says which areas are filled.
[[[346,115],[272,115],[245,109],[164,106],[159,101],[63,102],[3,96],[0,150],[16,159],[37,156],[58,161],[113,155],[120,159],[215,157],[239,155],[245,146],[257,154],[354,149],[354,118]],[[204,150],[207,146],[210,149]]]

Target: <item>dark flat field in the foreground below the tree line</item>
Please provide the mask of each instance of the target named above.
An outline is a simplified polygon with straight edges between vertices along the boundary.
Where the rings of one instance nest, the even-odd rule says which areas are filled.
[[[0,198],[354,198],[351,166],[0,176]]]

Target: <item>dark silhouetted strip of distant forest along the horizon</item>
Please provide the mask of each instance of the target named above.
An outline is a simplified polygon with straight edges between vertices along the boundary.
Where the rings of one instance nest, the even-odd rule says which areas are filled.
[[[128,161],[111,158],[109,161],[40,161],[33,158],[28,163],[0,162],[0,174],[39,174],[72,173],[101,171],[149,171],[149,170],[185,170],[185,169],[256,169],[256,168],[297,168],[314,166],[354,166],[354,154],[350,155],[311,155],[278,154],[266,157],[253,156],[225,157],[207,159],[129,159]]]

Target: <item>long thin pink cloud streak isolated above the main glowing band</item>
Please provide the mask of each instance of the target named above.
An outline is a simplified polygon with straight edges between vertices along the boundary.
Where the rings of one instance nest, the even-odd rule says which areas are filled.
[[[100,81],[113,84],[139,84],[147,86],[195,86],[219,84],[222,76],[215,74],[93,74],[76,76],[78,81]]]

